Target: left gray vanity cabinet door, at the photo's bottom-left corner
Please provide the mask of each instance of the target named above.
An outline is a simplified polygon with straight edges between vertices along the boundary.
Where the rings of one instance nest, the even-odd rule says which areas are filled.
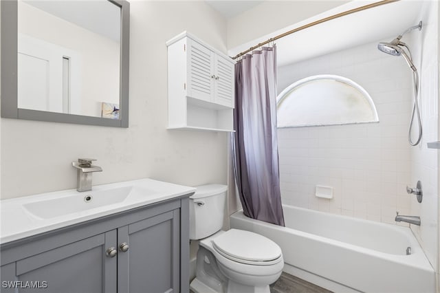
[[[116,237],[112,230],[3,265],[1,293],[116,292],[117,257],[106,255]]]

